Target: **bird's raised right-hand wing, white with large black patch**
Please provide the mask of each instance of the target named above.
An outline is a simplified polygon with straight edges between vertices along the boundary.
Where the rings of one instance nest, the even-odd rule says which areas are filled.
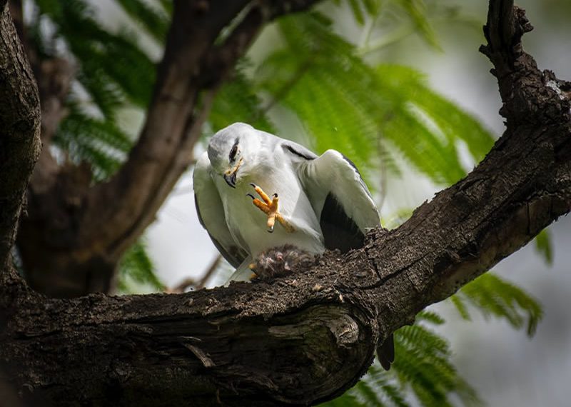
[[[298,176],[319,219],[325,248],[345,253],[362,247],[365,233],[379,226],[380,219],[355,164],[328,150],[300,161]]]

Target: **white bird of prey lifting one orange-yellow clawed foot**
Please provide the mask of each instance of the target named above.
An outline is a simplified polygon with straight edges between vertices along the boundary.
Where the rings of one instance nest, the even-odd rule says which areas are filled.
[[[193,187],[201,225],[237,268],[231,280],[248,280],[253,259],[271,248],[345,253],[363,246],[365,233],[380,225],[373,197],[347,157],[335,150],[317,156],[248,124],[212,137],[196,163]],[[394,359],[389,339],[378,350],[386,353],[385,360],[379,355],[385,368]]]

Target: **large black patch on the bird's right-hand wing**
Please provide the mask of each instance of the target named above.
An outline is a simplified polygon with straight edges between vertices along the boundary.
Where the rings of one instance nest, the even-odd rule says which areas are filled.
[[[338,248],[341,253],[345,253],[353,248],[363,247],[365,235],[355,221],[347,216],[343,206],[331,193],[325,198],[319,224],[325,248],[329,250]]]

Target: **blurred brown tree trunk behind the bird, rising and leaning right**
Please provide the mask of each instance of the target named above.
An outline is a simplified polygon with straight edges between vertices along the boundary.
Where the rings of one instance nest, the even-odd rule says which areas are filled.
[[[18,236],[30,286],[59,297],[112,290],[121,255],[153,221],[191,163],[213,94],[237,59],[268,21],[316,1],[175,1],[146,122],[118,174],[91,186],[88,166],[57,166],[47,149],[42,154],[29,189],[29,216]],[[214,44],[245,10],[226,41]],[[65,115],[60,96],[71,71],[60,60],[41,61],[35,71],[46,90],[41,96],[47,143]]]

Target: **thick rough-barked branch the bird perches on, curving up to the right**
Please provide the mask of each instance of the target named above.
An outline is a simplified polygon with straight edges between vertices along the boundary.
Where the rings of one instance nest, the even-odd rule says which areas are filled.
[[[196,293],[57,300],[12,281],[6,378],[57,406],[308,405],[345,391],[378,341],[571,210],[571,88],[522,52],[529,29],[511,1],[490,1],[482,51],[507,130],[403,226],[303,274]]]

